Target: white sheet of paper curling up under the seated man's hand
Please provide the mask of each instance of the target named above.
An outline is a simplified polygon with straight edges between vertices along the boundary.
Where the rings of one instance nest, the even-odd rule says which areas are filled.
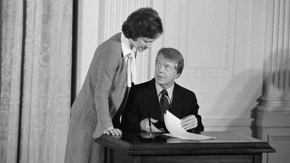
[[[180,125],[181,120],[175,117],[168,110],[166,110],[166,114],[164,114],[164,122],[165,122],[166,128],[168,129],[170,133],[170,134],[164,134],[164,135],[172,136],[172,137],[176,137],[180,139],[186,139],[186,140],[214,139],[214,137],[188,133]]]

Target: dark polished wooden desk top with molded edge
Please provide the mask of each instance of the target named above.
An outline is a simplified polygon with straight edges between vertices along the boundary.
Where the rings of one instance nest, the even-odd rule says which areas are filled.
[[[122,136],[103,134],[95,142],[118,149],[128,155],[144,154],[233,154],[275,152],[267,142],[231,132],[201,132],[215,139],[184,140],[167,137],[166,142],[140,142],[138,136],[148,133],[123,133]],[[154,133],[154,135],[161,135]]]

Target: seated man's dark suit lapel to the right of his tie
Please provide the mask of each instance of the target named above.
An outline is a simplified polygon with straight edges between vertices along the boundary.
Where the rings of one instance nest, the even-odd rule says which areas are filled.
[[[181,117],[183,110],[183,103],[182,103],[182,96],[183,93],[180,89],[180,86],[174,83],[174,88],[173,88],[173,97],[172,97],[172,104],[170,108],[170,113],[174,114],[176,117]]]

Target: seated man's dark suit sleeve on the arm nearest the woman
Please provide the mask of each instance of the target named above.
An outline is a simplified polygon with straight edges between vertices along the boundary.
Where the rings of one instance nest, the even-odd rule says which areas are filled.
[[[134,87],[129,92],[127,103],[122,112],[121,130],[123,133],[140,133],[139,111]]]

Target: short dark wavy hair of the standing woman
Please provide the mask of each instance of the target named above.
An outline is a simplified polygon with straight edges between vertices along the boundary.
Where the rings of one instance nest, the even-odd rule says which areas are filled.
[[[139,37],[157,39],[163,33],[162,22],[157,11],[150,7],[132,12],[122,25],[126,38],[134,41]]]

